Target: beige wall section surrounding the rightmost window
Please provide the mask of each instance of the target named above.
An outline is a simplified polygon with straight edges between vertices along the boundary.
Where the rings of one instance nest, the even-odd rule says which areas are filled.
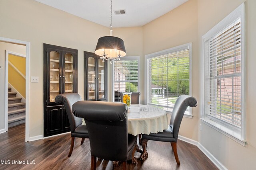
[[[246,147],[202,123],[198,141],[226,168],[251,170],[256,166],[256,1],[255,0],[200,0],[198,1],[198,40],[214,25],[224,19],[242,2],[246,7]],[[199,53],[201,57],[201,53]],[[201,63],[201,61],[200,61]],[[201,91],[200,91],[201,94]],[[199,95],[200,96],[200,95]],[[199,98],[201,100],[201,98]]]

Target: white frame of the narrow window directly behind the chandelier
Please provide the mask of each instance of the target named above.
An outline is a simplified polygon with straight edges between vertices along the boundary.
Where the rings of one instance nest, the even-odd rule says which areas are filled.
[[[140,92],[140,56],[125,56],[121,57],[120,61],[129,61],[129,60],[138,60],[138,92]],[[112,90],[112,102],[114,102],[115,99],[115,87],[114,87],[114,63],[111,64],[111,71],[112,71],[112,76],[111,76],[111,90]]]

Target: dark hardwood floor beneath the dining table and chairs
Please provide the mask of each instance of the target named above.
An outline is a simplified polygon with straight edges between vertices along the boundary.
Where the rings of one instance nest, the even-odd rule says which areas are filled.
[[[38,141],[25,141],[25,125],[9,128],[0,134],[0,170],[47,170],[76,169],[89,170],[91,163],[89,139],[80,145],[75,142],[72,156],[68,158],[70,134],[59,135]],[[217,170],[218,168],[201,152],[198,147],[178,141],[178,155],[181,165],[176,164],[170,143],[148,141],[148,159],[138,160],[136,165],[127,163],[128,170]],[[136,158],[140,154],[136,153]],[[5,162],[4,162],[5,161]],[[8,164],[10,161],[10,164]],[[14,161],[25,161],[20,164]],[[4,164],[6,163],[6,164]],[[13,164],[17,163],[17,164]],[[23,162],[22,162],[23,163]],[[30,164],[29,164],[30,163]],[[34,164],[33,164],[34,163]],[[122,165],[113,168],[112,161],[97,160],[97,170],[122,170]]]

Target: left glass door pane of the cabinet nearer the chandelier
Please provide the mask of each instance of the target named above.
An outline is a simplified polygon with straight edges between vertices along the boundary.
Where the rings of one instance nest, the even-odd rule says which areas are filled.
[[[88,57],[88,100],[95,100],[95,59]]]

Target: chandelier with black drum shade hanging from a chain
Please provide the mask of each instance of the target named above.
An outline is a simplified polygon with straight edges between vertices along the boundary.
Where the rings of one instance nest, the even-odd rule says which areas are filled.
[[[112,0],[110,0],[110,36],[100,37],[96,45],[95,54],[102,56],[103,62],[120,60],[120,57],[126,55],[124,41],[118,37],[112,36]]]

